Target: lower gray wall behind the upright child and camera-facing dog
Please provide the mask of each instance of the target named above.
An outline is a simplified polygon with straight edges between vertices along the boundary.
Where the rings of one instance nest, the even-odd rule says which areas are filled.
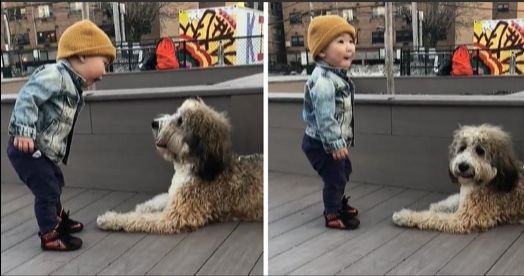
[[[301,150],[302,101],[298,94],[269,94],[270,171],[316,175]],[[357,95],[355,102],[352,181],[458,191],[448,179],[448,145],[466,124],[502,126],[524,160],[524,97]]]

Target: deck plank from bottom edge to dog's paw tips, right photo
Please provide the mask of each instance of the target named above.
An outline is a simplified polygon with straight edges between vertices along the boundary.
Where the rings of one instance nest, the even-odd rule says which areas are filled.
[[[415,201],[416,204],[427,206],[434,200],[434,198],[428,197],[428,194],[420,192],[418,194],[413,193],[413,198],[417,198],[417,195],[419,196],[419,200]],[[373,226],[364,226],[363,231],[358,233],[358,237],[354,237],[348,241],[340,241],[336,248],[333,248],[318,258],[311,260],[307,264],[291,272],[291,274],[333,275],[340,273],[344,268],[348,267],[362,256],[369,254],[374,249],[391,241],[404,232],[404,230],[405,228],[393,225],[391,219],[386,217],[384,220]]]

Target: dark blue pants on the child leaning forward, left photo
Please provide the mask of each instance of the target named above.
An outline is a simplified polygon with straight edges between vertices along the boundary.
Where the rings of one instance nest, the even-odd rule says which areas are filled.
[[[60,167],[44,154],[34,158],[32,153],[19,151],[9,139],[7,156],[18,177],[35,196],[35,215],[41,233],[53,230],[58,224],[57,215],[62,209],[60,195],[64,176]]]

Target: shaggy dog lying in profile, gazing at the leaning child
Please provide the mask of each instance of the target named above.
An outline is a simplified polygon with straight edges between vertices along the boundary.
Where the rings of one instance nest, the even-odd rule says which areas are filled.
[[[97,218],[104,230],[175,234],[211,222],[262,221],[263,158],[237,156],[225,115],[188,99],[173,115],[152,123],[157,151],[174,164],[169,192]]]

